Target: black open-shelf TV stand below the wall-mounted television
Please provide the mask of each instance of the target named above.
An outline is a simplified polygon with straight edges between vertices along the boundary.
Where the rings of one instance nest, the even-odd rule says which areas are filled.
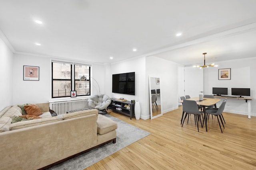
[[[130,119],[134,117],[134,103],[131,103],[130,101],[121,102],[120,100],[112,98],[111,104],[107,109],[129,116]]]

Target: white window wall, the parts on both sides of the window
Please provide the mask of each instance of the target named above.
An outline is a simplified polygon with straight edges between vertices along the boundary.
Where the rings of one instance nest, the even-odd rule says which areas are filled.
[[[58,59],[60,60],[60,59]],[[65,61],[65,59],[63,59]],[[75,62],[75,61],[74,61]],[[79,61],[77,61],[79,63]],[[39,66],[39,81],[24,81],[23,66]],[[25,103],[44,103],[51,99],[51,59],[48,57],[38,57],[32,55],[15,54],[13,61],[13,105]],[[101,93],[104,93],[104,66],[92,64],[92,77],[100,86]],[[92,81],[92,94],[98,94],[98,85]],[[77,97],[88,98],[88,97]],[[76,99],[77,99],[76,98]],[[67,100],[61,98],[61,100]],[[74,99],[74,98],[72,98]],[[60,99],[58,99],[60,100]]]

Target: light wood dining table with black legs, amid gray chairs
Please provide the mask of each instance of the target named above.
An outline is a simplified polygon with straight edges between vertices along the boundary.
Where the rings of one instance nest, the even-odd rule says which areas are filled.
[[[220,102],[220,99],[203,98],[203,100],[199,100],[199,97],[196,97],[196,98],[189,98],[189,99],[186,99],[186,100],[194,100],[194,101],[196,101],[196,104],[198,104],[200,106],[203,106],[205,129],[206,129],[206,132],[207,132],[207,116],[206,116],[205,107],[212,106],[212,105]],[[180,100],[179,102],[183,103],[183,100]],[[203,123],[203,125],[204,125],[204,123]]]

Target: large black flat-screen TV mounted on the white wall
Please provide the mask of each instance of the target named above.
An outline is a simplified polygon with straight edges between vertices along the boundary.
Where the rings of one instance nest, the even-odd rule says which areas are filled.
[[[135,95],[135,72],[112,74],[112,93]]]

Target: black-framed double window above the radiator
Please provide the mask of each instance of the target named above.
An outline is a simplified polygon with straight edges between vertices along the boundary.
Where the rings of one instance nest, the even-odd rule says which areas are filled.
[[[86,81],[80,81],[82,76]],[[76,96],[90,95],[90,66],[52,61],[52,98],[70,97],[72,90]]]

